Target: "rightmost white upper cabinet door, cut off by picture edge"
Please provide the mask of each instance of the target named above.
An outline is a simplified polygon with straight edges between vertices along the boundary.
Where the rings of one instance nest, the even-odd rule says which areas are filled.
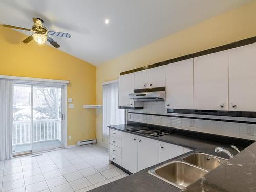
[[[256,44],[230,49],[229,110],[256,111]]]

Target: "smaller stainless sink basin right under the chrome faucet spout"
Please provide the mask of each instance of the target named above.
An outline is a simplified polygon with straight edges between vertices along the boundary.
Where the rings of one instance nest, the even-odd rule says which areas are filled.
[[[216,157],[217,159],[220,160],[221,163],[225,163],[227,161],[227,159],[223,159],[223,158],[212,156],[205,153],[198,153],[198,152],[188,155],[187,157],[184,157],[183,160],[186,161],[187,163],[196,165],[208,171],[220,166],[219,161],[215,158],[207,160],[209,157]]]

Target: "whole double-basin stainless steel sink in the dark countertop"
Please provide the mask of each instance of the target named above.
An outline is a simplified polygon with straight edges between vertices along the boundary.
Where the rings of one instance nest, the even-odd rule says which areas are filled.
[[[148,173],[183,189],[226,161],[227,159],[217,156],[195,152],[180,161],[172,161],[151,169]]]

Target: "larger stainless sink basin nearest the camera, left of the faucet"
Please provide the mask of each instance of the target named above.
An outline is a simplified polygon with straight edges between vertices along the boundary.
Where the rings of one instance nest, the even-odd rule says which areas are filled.
[[[172,161],[151,169],[148,173],[169,184],[183,189],[203,177],[208,172],[185,162]]]

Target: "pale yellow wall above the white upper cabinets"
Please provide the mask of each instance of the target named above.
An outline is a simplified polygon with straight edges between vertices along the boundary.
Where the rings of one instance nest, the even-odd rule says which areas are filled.
[[[252,36],[256,36],[255,0],[98,66],[97,104],[102,104],[101,83],[117,79],[122,71]],[[97,139],[100,144],[104,145],[102,143],[102,110],[97,112]]]

